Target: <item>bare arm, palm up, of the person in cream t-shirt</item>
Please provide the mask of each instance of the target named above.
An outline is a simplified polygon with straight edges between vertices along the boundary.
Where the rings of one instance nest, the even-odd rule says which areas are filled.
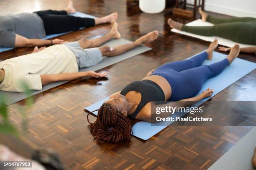
[[[40,75],[42,85],[47,85],[52,82],[58,81],[69,81],[74,80],[81,77],[92,76],[96,78],[105,77],[108,75],[107,72],[94,72],[94,71],[86,71],[86,72],[73,72],[73,73],[60,73],[60,74],[51,74],[51,75]]]

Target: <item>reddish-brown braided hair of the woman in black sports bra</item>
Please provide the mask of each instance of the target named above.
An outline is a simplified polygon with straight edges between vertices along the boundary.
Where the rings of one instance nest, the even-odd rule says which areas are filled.
[[[89,121],[89,115],[92,112],[87,115],[87,121],[90,123],[89,129],[94,140],[98,143],[118,143],[131,139],[130,119],[118,112],[113,105],[103,103],[100,109],[95,111],[98,111],[98,115],[94,123]]]

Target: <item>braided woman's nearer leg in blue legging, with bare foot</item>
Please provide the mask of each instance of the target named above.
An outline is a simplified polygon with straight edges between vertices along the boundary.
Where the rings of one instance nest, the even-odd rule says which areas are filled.
[[[191,68],[179,72],[177,78],[181,85],[180,99],[195,96],[202,88],[205,80],[215,77],[224,70],[239,54],[239,45],[232,47],[229,55],[222,61],[211,65],[202,65],[200,67]]]

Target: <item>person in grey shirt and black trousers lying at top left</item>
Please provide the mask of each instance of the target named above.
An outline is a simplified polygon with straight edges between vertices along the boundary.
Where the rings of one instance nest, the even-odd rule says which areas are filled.
[[[63,44],[64,40],[41,40],[46,35],[76,31],[82,27],[111,23],[118,14],[112,13],[102,18],[80,18],[68,14],[75,13],[72,0],[68,0],[65,10],[45,10],[34,13],[18,13],[0,16],[0,46],[35,47]]]

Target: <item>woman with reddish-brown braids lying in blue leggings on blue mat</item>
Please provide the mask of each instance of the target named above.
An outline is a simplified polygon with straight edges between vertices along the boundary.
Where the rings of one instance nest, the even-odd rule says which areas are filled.
[[[166,63],[148,72],[143,80],[131,82],[111,95],[98,110],[97,120],[89,125],[94,139],[102,143],[130,139],[129,118],[151,122],[151,114],[154,114],[151,113],[151,101],[199,101],[210,97],[213,93],[210,88],[195,95],[205,80],[220,74],[239,54],[239,45],[236,44],[224,60],[202,65],[206,59],[212,59],[212,52],[217,46],[216,39],[206,52],[188,60]],[[87,115],[88,122],[90,114]]]

